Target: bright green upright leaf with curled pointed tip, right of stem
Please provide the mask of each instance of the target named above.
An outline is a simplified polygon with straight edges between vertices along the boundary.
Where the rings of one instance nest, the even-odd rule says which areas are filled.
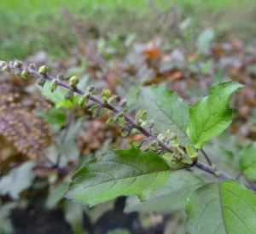
[[[189,108],[187,134],[196,148],[201,149],[212,136],[229,127],[232,117],[229,98],[241,87],[240,83],[231,81],[216,83],[210,88],[210,95],[200,98]]]

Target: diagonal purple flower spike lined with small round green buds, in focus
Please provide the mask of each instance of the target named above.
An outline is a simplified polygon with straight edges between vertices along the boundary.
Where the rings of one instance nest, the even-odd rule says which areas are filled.
[[[193,147],[186,146],[186,151],[184,147],[179,146],[177,140],[177,134],[175,132],[166,131],[166,133],[159,134],[157,137],[154,136],[152,130],[154,128],[154,121],[145,117],[147,111],[141,109],[137,111],[137,115],[134,120],[131,117],[125,115],[127,111],[127,103],[125,99],[120,101],[117,95],[112,94],[112,92],[105,88],[102,90],[100,95],[97,95],[97,92],[93,86],[86,88],[85,91],[77,88],[79,83],[79,77],[73,76],[69,78],[68,83],[65,82],[65,77],[60,73],[56,78],[50,77],[47,72],[49,71],[48,66],[41,66],[37,71],[35,66],[32,64],[28,68],[23,68],[22,63],[18,60],[15,60],[14,63],[7,64],[6,62],[1,62],[0,67],[3,71],[11,71],[15,68],[17,77],[21,76],[24,79],[28,79],[31,75],[33,77],[38,77],[38,85],[44,87],[46,80],[49,80],[49,89],[53,93],[55,92],[58,86],[67,88],[67,94],[65,98],[70,100],[73,105],[78,105],[79,107],[84,106],[89,100],[92,100],[96,104],[90,106],[90,111],[92,112],[92,117],[102,117],[103,110],[105,108],[111,112],[110,117],[108,117],[107,124],[119,123],[119,126],[122,128],[122,135],[128,136],[130,134],[143,133],[146,138],[138,143],[143,151],[159,151],[161,150],[164,153],[162,156],[170,162],[179,162],[184,164],[192,163],[190,158],[197,157],[197,152],[194,151]],[[81,97],[77,101],[74,101],[74,93],[80,94]],[[117,107],[112,106],[112,103],[117,103]],[[187,157],[189,154],[189,157]]]

